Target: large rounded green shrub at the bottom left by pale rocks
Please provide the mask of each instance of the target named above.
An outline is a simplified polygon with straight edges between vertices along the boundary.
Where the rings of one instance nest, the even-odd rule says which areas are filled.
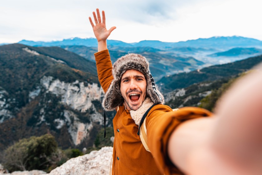
[[[57,143],[51,134],[21,139],[4,151],[4,167],[10,172],[46,170],[57,161]]]

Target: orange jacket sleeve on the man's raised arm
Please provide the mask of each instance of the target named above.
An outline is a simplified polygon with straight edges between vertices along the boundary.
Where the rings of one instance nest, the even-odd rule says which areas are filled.
[[[108,50],[100,51],[94,54],[96,61],[96,68],[98,74],[98,80],[102,86],[104,92],[107,91],[111,81],[113,80],[112,75],[112,62]]]

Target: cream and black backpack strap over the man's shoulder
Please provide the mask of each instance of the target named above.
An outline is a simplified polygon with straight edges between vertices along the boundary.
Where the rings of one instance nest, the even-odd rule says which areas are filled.
[[[158,105],[159,103],[153,104],[143,115],[139,127],[138,127],[138,135],[140,136],[141,142],[144,146],[144,148],[150,152],[149,148],[148,148],[148,144],[147,144],[147,128],[146,128],[146,116],[148,114],[148,112],[150,111],[150,109],[152,109],[155,105]],[[178,111],[179,109],[173,109],[173,111]]]

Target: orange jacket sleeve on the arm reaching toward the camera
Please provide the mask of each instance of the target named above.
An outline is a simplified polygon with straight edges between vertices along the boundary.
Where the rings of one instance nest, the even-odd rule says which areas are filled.
[[[156,105],[149,111],[146,120],[148,147],[163,174],[183,174],[171,162],[167,153],[168,139],[174,129],[188,119],[211,115],[212,113],[208,110],[197,107],[184,107],[180,108],[179,111],[172,111],[169,106]]]

